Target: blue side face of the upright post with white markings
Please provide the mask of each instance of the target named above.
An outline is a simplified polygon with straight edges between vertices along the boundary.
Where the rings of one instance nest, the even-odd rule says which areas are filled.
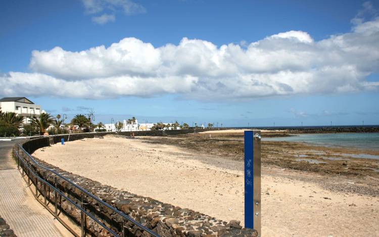
[[[245,131],[245,227],[254,228],[253,131]]]

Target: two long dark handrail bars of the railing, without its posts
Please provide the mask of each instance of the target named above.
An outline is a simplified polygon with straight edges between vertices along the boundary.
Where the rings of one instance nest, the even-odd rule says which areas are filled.
[[[78,188],[81,192],[83,192],[84,194],[88,195],[89,197],[91,197],[92,199],[96,200],[98,203],[106,206],[107,208],[111,209],[112,211],[114,211],[115,213],[119,214],[120,216],[122,216],[123,218],[125,218],[126,220],[132,222],[133,224],[135,224],[136,226],[138,226],[139,228],[147,231],[148,233],[150,233],[151,235],[153,236],[156,236],[156,237],[160,237],[160,235],[158,235],[157,233],[153,232],[151,229],[141,225],[140,223],[138,223],[136,220],[134,220],[133,218],[129,217],[128,215],[120,212],[119,210],[117,210],[116,208],[112,207],[111,205],[109,205],[108,203],[104,202],[103,200],[99,199],[97,196],[94,196],[93,194],[89,193],[88,191],[86,191],[84,188],[82,188],[81,186],[73,183],[70,179],[62,176],[61,174],[59,174],[57,171],[55,170],[52,170],[52,169],[49,169],[48,167],[45,167],[43,165],[40,165],[36,160],[34,160],[34,158],[28,153],[25,151],[25,149],[20,145],[20,144],[17,144],[17,146],[22,150],[22,152],[24,154],[26,154],[30,160],[33,161],[33,163],[40,167],[41,169],[44,169],[44,170],[47,170],[47,171],[50,171],[52,173],[54,173],[55,175],[57,175],[58,177],[60,177],[61,179],[67,181],[68,183],[70,183],[71,185],[73,185],[74,187]],[[20,155],[16,152],[16,154],[18,155],[18,157],[20,158]],[[25,163],[25,162],[23,162]],[[30,169],[29,166],[27,166],[27,168],[29,169],[29,171],[31,171],[33,174],[34,172]],[[84,214],[86,214],[87,216],[89,216],[91,219],[93,219],[94,221],[98,222],[101,226],[103,226],[104,228],[106,228],[109,232],[111,232],[114,236],[119,236],[117,233],[115,233],[114,231],[112,231],[111,229],[109,229],[107,226],[105,226],[101,221],[97,220],[96,217],[93,217],[90,213],[86,212],[84,209],[82,209],[81,207],[79,207],[77,204],[75,204],[71,199],[69,199],[68,197],[66,197],[62,192],[59,191],[59,189],[57,189],[55,186],[53,186],[52,184],[50,184],[49,182],[46,182],[44,179],[40,178],[38,175],[35,175],[40,181],[48,184],[50,187],[52,187],[57,193],[59,193],[61,196],[63,196],[66,200],[68,200],[69,202],[71,202],[72,204],[75,205],[75,207],[77,207],[78,209],[80,209],[81,211],[83,211]],[[124,226],[123,226],[124,228]],[[124,231],[122,231],[124,232]]]

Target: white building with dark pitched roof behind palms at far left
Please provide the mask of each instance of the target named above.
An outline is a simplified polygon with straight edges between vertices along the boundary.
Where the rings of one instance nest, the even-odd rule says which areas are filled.
[[[31,117],[39,117],[41,106],[35,105],[25,97],[5,97],[0,100],[0,110],[3,112],[14,112],[17,115],[24,116],[24,123],[30,123]]]

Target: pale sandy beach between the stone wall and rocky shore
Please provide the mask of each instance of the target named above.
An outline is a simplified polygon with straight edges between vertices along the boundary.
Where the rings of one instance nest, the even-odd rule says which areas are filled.
[[[208,133],[135,139],[105,136],[56,144],[33,155],[133,194],[243,224],[243,162],[241,151],[233,150],[233,143],[241,143],[240,137],[235,138],[241,134],[213,134],[212,138]],[[322,150],[338,158],[338,151],[293,145],[262,143],[262,236],[378,236],[377,175],[357,175],[354,169],[353,173],[330,172],[337,165],[344,167],[343,160],[326,165],[300,162],[303,168],[296,168],[289,154],[296,159],[304,150],[320,159],[317,154]],[[280,155],[283,151],[285,156]],[[355,160],[348,161],[350,167],[377,165]],[[324,167],[314,168],[318,166]]]

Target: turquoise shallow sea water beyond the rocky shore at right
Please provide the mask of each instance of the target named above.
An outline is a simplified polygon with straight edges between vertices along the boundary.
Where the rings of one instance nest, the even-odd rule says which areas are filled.
[[[304,141],[310,144],[329,147],[349,147],[359,148],[363,150],[379,150],[379,132],[296,134],[295,136],[286,137],[263,137],[262,140]]]

